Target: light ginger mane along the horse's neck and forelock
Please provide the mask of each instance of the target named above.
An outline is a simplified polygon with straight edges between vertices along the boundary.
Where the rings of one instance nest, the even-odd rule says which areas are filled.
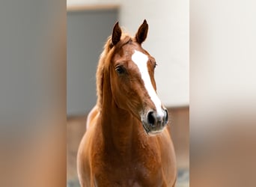
[[[99,111],[102,108],[103,102],[103,75],[106,70],[109,70],[109,64],[112,61],[112,57],[115,54],[117,49],[120,49],[126,43],[132,40],[132,37],[129,34],[122,34],[121,40],[117,43],[116,46],[112,47],[112,36],[109,36],[104,48],[103,52],[100,55],[100,60],[97,66],[97,73],[96,73],[96,88],[97,88],[97,107]]]

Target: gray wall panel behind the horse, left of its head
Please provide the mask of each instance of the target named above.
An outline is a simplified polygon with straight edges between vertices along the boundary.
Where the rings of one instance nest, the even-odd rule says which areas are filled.
[[[118,10],[67,12],[67,115],[85,114],[96,103],[96,68]]]

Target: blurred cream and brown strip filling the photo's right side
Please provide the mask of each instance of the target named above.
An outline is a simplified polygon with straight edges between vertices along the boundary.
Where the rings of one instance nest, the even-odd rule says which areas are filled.
[[[256,3],[189,4],[190,185],[255,186]]]

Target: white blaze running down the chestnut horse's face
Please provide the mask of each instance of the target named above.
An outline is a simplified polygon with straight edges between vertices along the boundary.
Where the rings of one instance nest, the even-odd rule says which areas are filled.
[[[147,70],[147,55],[144,55],[142,52],[135,52],[132,54],[132,61],[138,66],[138,70],[141,73],[141,79],[144,82],[144,86],[147,89],[147,93],[150,96],[150,99],[153,101],[156,106],[156,113],[159,117],[163,117],[164,113],[162,112],[161,101],[156,95],[156,91],[153,89],[153,85],[150,80],[150,76]]]

